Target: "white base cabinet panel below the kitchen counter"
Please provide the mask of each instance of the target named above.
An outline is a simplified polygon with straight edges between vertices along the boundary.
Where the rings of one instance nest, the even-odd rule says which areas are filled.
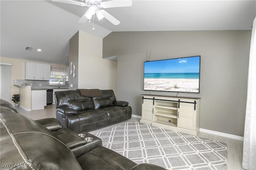
[[[46,90],[31,90],[31,109],[44,109],[46,106]]]

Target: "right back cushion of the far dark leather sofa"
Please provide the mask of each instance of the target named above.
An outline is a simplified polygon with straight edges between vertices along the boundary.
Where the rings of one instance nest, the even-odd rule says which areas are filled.
[[[95,109],[107,106],[114,106],[113,102],[116,101],[113,90],[101,90],[102,96],[94,97],[93,102]]]

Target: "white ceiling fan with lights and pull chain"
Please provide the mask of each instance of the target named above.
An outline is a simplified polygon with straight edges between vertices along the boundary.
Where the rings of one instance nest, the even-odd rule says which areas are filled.
[[[113,23],[114,25],[118,25],[120,21],[114,18],[105,10],[101,10],[101,8],[114,8],[114,7],[124,7],[124,6],[132,6],[132,0],[110,0],[104,1],[102,0],[52,0],[55,2],[62,2],[66,4],[74,4],[79,6],[88,6],[89,9],[84,13],[82,18],[78,21],[79,23],[85,23],[87,20],[91,20],[92,16],[96,14],[98,20],[102,20],[102,18],[106,18],[108,21]]]

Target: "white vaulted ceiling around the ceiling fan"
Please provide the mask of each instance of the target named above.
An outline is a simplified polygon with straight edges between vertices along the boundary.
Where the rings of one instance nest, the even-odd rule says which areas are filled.
[[[250,30],[256,16],[255,0],[133,0],[105,9],[119,25],[95,17],[92,30],[92,22],[78,23],[88,7],[48,0],[0,0],[0,7],[1,57],[66,65],[78,30],[102,38],[112,31]]]

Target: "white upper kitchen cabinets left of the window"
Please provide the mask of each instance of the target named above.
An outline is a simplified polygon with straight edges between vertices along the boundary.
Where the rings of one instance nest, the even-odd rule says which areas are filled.
[[[26,80],[50,80],[51,65],[26,62]]]

